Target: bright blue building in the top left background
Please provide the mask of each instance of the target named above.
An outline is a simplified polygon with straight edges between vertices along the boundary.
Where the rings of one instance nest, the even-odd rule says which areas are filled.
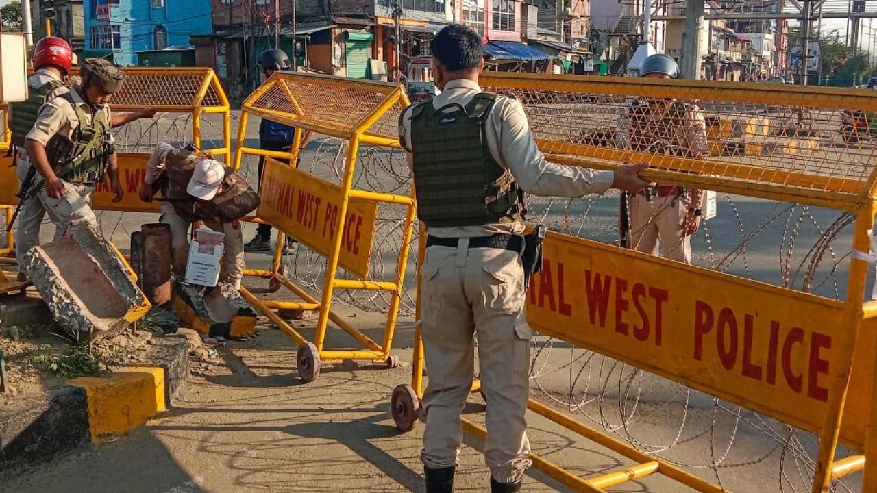
[[[138,65],[137,52],[189,46],[193,34],[212,29],[210,0],[84,0],[83,11],[84,53],[121,66]]]

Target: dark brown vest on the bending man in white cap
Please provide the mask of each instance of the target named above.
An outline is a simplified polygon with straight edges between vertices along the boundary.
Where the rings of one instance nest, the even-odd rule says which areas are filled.
[[[259,195],[246,180],[225,167],[225,190],[211,200],[197,200],[189,195],[189,181],[195,167],[203,156],[185,149],[168,153],[165,159],[167,181],[161,187],[161,195],[174,205],[181,218],[189,221],[212,221],[228,223],[245,217],[259,207]]]

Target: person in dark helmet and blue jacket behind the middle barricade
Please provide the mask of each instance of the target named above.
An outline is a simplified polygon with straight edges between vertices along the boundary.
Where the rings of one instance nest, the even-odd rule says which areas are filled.
[[[265,50],[259,56],[259,65],[262,70],[262,76],[267,80],[271,75],[275,75],[278,70],[289,70],[291,62],[289,56],[280,49]],[[259,148],[267,151],[289,152],[292,147],[292,139],[295,135],[294,129],[289,125],[283,125],[267,118],[262,118],[259,124]],[[308,144],[310,140],[310,132],[307,132],[302,139],[302,147]],[[265,157],[259,157],[259,182],[262,180],[262,168],[265,165]],[[295,243],[294,239],[287,238],[284,245],[284,253],[289,251],[289,247]],[[247,252],[264,252],[270,250],[271,245],[271,225],[261,223],[256,226],[256,235],[247,242],[245,248]]]

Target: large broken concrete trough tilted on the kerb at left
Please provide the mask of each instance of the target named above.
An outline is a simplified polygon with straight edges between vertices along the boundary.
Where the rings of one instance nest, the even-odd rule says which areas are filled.
[[[115,335],[149,311],[125,264],[90,225],[32,248],[23,262],[55,320],[76,339]]]

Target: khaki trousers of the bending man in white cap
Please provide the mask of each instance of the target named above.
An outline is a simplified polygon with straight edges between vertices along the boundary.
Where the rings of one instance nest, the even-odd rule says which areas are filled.
[[[174,274],[183,276],[186,273],[186,262],[189,260],[189,226],[192,223],[180,217],[174,205],[161,203],[159,222],[170,226],[171,259]],[[244,278],[244,230],[240,224],[204,222],[213,231],[225,233],[223,246],[223,265],[219,271],[219,282],[227,282],[234,290],[240,289]]]

